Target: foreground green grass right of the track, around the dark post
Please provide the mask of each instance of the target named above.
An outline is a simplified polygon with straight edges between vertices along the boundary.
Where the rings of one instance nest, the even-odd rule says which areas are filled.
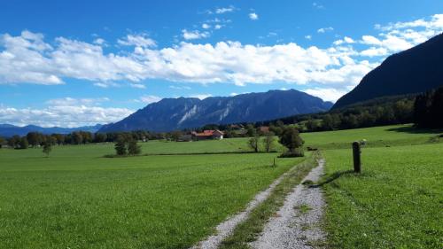
[[[443,144],[323,153],[330,248],[443,248]]]

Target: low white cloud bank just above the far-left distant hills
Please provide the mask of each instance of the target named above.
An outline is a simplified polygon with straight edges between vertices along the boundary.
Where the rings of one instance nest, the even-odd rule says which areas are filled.
[[[60,103],[62,104],[62,103]],[[132,110],[127,108],[105,108],[89,105],[51,105],[42,109],[0,106],[0,123],[24,126],[34,124],[42,127],[80,127],[120,121]]]

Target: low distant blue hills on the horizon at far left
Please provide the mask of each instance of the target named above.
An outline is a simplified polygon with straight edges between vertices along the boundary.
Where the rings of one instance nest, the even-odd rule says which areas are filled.
[[[28,132],[37,131],[43,134],[52,134],[52,133],[60,133],[60,134],[68,134],[74,131],[89,131],[89,132],[97,132],[98,129],[102,128],[101,124],[97,124],[95,126],[84,126],[78,128],[61,128],[61,127],[51,127],[51,128],[43,128],[35,125],[27,125],[24,127],[14,126],[10,124],[0,124],[0,136],[25,136]]]

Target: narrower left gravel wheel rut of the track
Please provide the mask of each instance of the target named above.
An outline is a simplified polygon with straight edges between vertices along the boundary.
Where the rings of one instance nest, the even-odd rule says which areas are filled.
[[[292,169],[292,168],[291,168]],[[291,169],[288,171],[290,172]],[[286,175],[288,175],[288,172],[284,173],[280,177],[274,181],[274,183],[271,183],[265,191],[261,191],[258,193],[251,202],[249,202],[248,206],[246,207],[245,211],[242,211],[238,214],[235,214],[234,216],[231,216],[226,220],[225,222],[220,223],[216,228],[216,233],[210,237],[207,237],[205,240],[200,241],[197,245],[194,245],[190,247],[191,249],[212,249],[217,248],[223,239],[228,237],[232,231],[236,228],[237,224],[240,222],[244,222],[248,215],[253,211],[253,209],[256,206],[259,206],[260,203],[262,203],[264,200],[268,198],[270,193],[276,188],[276,185],[278,185]]]

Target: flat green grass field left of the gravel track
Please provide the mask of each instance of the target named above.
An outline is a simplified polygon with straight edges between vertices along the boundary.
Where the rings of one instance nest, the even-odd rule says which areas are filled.
[[[144,152],[232,152],[238,141],[151,141]],[[50,158],[0,150],[0,248],[187,248],[302,160],[109,153],[113,144],[56,146]]]

